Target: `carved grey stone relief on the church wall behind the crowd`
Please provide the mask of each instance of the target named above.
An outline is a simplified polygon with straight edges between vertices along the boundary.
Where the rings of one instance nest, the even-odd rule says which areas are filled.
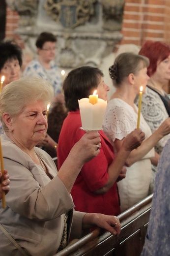
[[[17,33],[36,51],[40,32],[57,37],[56,62],[74,68],[99,66],[121,40],[124,0],[7,0],[22,19]],[[24,22],[24,14],[29,18]],[[31,21],[32,19],[32,21]],[[28,22],[28,23],[27,23]]]

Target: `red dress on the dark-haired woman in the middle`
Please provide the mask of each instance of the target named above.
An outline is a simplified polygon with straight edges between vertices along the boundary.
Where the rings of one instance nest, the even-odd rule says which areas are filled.
[[[64,120],[58,140],[58,169],[74,144],[85,134],[85,131],[80,129],[81,126],[80,111],[69,112]],[[116,183],[103,195],[93,193],[108,181],[107,169],[114,159],[110,141],[102,130],[99,133],[102,144],[100,153],[93,160],[84,164],[71,190],[71,195],[76,211],[118,215],[120,214],[120,207]]]

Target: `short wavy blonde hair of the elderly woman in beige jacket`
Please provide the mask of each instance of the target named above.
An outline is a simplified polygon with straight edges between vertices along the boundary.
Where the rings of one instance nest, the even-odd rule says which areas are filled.
[[[48,104],[53,97],[53,87],[43,78],[23,77],[6,85],[0,94],[0,121],[4,131],[8,130],[2,119],[4,112],[11,117],[17,117],[28,103],[42,100]]]

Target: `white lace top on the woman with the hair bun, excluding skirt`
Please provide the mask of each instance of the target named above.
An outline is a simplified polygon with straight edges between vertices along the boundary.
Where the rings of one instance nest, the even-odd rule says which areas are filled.
[[[135,107],[138,112],[138,107],[136,105]],[[122,140],[127,134],[137,128],[137,120],[138,114],[132,106],[120,98],[113,98],[107,105],[103,123],[104,132],[113,144],[115,139]],[[148,138],[152,134],[142,113],[140,117],[140,128],[145,133],[145,138]],[[153,157],[153,152],[154,150],[151,150],[144,158]]]

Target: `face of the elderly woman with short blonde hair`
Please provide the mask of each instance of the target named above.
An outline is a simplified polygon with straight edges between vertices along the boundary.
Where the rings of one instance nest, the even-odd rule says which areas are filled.
[[[22,113],[12,120],[13,137],[19,145],[34,147],[44,140],[47,131],[47,109],[42,101],[29,103]]]

